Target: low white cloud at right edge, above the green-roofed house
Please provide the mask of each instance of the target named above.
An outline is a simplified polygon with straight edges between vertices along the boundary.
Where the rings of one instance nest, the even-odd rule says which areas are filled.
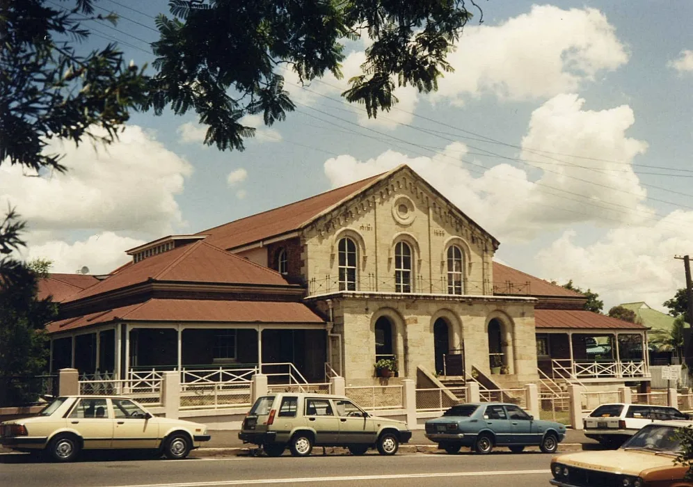
[[[674,255],[693,248],[693,211],[673,211],[654,225],[619,227],[593,244],[580,246],[568,230],[536,255],[540,275],[557,282],[573,279],[604,300],[605,311],[619,303],[662,303],[685,287],[683,263]]]

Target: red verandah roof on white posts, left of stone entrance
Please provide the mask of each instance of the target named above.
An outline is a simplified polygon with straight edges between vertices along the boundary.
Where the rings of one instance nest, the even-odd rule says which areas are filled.
[[[324,324],[325,321],[303,303],[280,301],[213,301],[197,299],[150,299],[54,321],[49,333],[74,330],[111,321],[177,321],[194,323]]]

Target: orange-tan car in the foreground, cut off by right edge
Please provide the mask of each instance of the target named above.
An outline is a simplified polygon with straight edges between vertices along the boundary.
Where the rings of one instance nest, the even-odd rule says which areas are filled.
[[[559,487],[693,487],[685,480],[687,468],[674,464],[680,451],[676,432],[693,426],[690,421],[649,424],[621,448],[610,452],[580,452],[557,456],[551,461],[553,479]]]

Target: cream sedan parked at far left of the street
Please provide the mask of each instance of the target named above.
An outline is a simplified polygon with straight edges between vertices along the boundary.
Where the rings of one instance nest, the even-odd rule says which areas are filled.
[[[4,447],[61,462],[81,449],[148,449],[180,459],[209,438],[204,424],[156,417],[122,396],[58,397],[36,416],[0,424]]]

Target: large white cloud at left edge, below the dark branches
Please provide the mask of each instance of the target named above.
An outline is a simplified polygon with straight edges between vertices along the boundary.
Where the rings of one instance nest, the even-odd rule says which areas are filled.
[[[120,141],[97,150],[65,143],[49,151],[65,154],[67,173],[26,177],[19,166],[0,167],[0,205],[16,206],[30,230],[160,235],[184,224],[175,195],[192,167],[141,127],[128,126]]]

